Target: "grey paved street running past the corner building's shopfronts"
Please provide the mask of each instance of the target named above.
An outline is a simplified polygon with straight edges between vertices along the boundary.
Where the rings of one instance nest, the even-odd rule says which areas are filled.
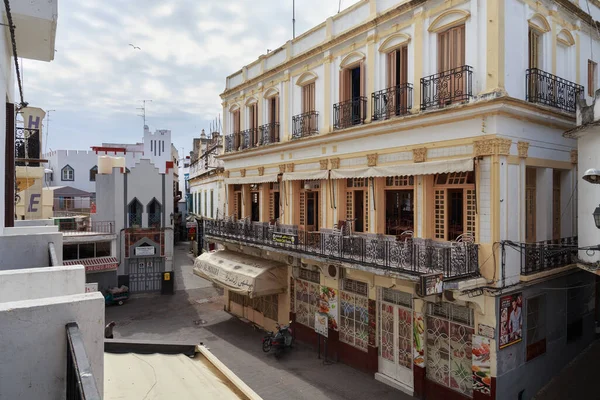
[[[344,364],[324,365],[301,343],[280,359],[263,353],[263,332],[224,311],[222,291],[193,275],[189,249],[175,246],[175,295],[136,295],[107,307],[115,338],[203,343],[265,400],[412,399]]]

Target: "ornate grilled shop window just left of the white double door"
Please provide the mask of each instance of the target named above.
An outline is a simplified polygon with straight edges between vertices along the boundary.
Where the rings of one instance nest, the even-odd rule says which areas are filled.
[[[340,291],[340,341],[367,351],[369,339],[368,284],[344,279]]]

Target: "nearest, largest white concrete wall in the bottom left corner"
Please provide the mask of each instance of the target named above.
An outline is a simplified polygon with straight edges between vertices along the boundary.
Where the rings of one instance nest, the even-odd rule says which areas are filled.
[[[64,399],[67,335],[79,325],[100,393],[104,388],[104,298],[99,292],[0,303],[3,398]]]

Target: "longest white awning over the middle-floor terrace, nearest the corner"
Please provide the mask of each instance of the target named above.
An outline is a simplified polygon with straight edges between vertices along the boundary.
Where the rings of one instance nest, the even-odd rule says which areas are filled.
[[[381,167],[334,169],[331,170],[331,179],[433,175],[467,171],[473,171],[472,158],[428,161],[423,163],[400,164]]]

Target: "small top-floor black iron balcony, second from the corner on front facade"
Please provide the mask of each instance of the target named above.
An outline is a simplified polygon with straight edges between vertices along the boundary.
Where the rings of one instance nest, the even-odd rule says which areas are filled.
[[[412,92],[412,85],[403,83],[373,93],[372,120],[378,121],[408,114],[412,109]]]

